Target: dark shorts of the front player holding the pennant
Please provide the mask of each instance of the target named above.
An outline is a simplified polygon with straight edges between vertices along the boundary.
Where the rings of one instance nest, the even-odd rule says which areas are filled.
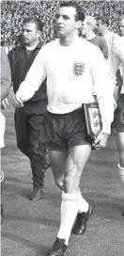
[[[87,140],[84,109],[77,109],[68,114],[52,114],[47,111],[45,129],[51,151],[67,152],[70,147],[91,145]]]

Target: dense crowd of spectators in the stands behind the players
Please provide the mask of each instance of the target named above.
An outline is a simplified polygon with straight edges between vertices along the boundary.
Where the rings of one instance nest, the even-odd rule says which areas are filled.
[[[54,15],[59,4],[64,1],[3,1],[1,4],[2,45],[11,48],[20,39],[23,19],[35,16],[42,21],[43,44],[54,40]],[[87,15],[97,17],[106,15],[110,21],[110,30],[118,33],[117,20],[124,9],[124,1],[76,1],[83,6]],[[116,10],[116,11],[115,11]]]

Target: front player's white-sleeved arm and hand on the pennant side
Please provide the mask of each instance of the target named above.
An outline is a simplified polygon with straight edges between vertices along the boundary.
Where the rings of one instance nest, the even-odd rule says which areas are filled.
[[[96,58],[92,61],[91,74],[94,84],[94,94],[100,106],[102,130],[94,143],[96,149],[106,146],[111,133],[111,123],[114,119],[114,96],[112,82],[106,68],[106,61],[101,51],[96,50]]]

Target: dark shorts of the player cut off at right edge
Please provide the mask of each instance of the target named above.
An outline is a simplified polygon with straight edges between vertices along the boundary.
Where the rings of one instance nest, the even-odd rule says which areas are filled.
[[[124,132],[124,94],[120,94],[115,111],[116,131]]]

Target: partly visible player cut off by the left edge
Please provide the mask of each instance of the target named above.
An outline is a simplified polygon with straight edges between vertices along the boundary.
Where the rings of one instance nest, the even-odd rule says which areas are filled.
[[[9,89],[11,86],[11,75],[10,67],[8,62],[8,56],[6,54],[5,48],[0,46],[0,62],[1,62],[1,109],[6,108],[5,99],[8,97]],[[0,112],[0,149],[5,147],[4,135],[6,129],[6,119],[4,115]],[[4,180],[4,172],[0,167],[0,184],[1,184],[1,195],[2,195],[2,182]],[[3,222],[3,204],[1,203],[1,223]]]

